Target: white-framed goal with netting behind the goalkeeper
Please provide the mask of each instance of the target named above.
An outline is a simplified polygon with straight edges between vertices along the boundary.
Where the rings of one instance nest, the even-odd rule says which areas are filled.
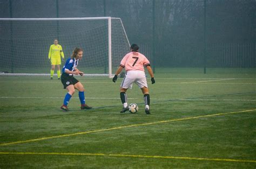
[[[130,48],[120,18],[0,18],[0,71],[49,74],[54,39],[62,45],[65,59],[75,47],[83,48],[79,69],[88,75],[112,76]]]

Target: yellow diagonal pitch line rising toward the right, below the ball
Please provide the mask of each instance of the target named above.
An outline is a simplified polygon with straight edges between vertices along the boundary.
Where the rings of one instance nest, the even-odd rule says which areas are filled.
[[[52,139],[52,138],[62,138],[62,137],[85,135],[85,134],[88,134],[88,133],[96,133],[96,132],[102,132],[102,131],[111,131],[111,130],[125,129],[125,128],[137,127],[137,126],[145,126],[145,125],[152,125],[152,124],[161,124],[161,123],[168,123],[168,122],[184,121],[184,120],[188,120],[188,119],[197,119],[197,118],[204,118],[204,117],[222,116],[222,115],[228,115],[228,114],[236,114],[236,113],[239,113],[239,112],[250,112],[250,111],[255,111],[255,110],[256,109],[242,110],[242,111],[233,111],[233,112],[223,112],[223,113],[211,114],[211,115],[203,115],[203,116],[195,116],[195,117],[185,117],[185,118],[178,118],[178,119],[169,119],[169,120],[166,120],[166,121],[157,121],[157,122],[142,123],[142,124],[131,124],[131,125],[118,126],[118,127],[109,128],[109,129],[91,130],[91,131],[76,132],[76,133],[65,134],[65,135],[58,135],[58,136],[50,136],[50,137],[42,137],[42,138],[36,138],[36,139],[29,139],[29,140],[23,140],[23,141],[17,141],[17,142],[1,143],[0,146],[21,144],[21,143],[29,143],[29,142],[37,142],[37,141],[47,140],[47,139]]]

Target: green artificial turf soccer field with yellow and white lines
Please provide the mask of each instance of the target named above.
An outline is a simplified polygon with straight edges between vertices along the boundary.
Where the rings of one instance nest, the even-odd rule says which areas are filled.
[[[255,74],[156,73],[151,114],[120,114],[119,86],[77,78],[91,110],[60,110],[57,78],[0,76],[0,168],[255,168]],[[148,79],[150,82],[150,79]]]

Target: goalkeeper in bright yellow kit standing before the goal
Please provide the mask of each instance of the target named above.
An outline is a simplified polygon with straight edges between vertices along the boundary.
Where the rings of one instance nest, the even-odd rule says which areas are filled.
[[[62,61],[60,59],[60,56],[62,57],[62,60],[64,61],[64,53],[62,51],[62,46],[58,44],[58,40],[55,39],[54,44],[50,46],[48,59],[51,63],[51,80],[53,78],[55,66],[57,65],[57,75],[58,79],[60,79],[60,65],[62,64]]]

